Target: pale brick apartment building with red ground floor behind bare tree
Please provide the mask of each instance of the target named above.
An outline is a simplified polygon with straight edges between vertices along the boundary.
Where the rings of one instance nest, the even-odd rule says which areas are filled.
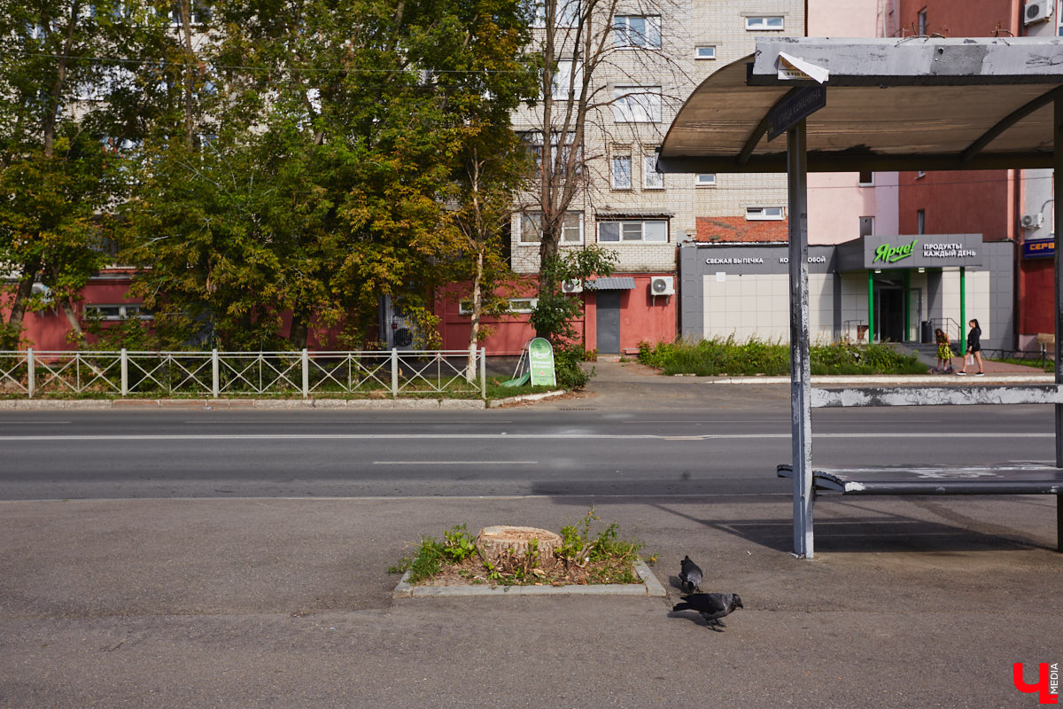
[[[569,5],[575,9],[576,5]],[[540,43],[551,32],[540,18]],[[577,324],[585,347],[602,354],[635,351],[641,341],[671,341],[679,332],[680,284],[676,257],[681,244],[695,241],[782,241],[787,235],[786,175],[661,174],[656,148],[682,102],[716,68],[753,52],[765,35],[805,34],[804,0],[730,0],[619,3],[611,15],[577,19],[559,12],[553,29],[558,71],[549,150],[542,145],[543,107],[513,117],[542,161],[574,142],[562,120],[570,100],[592,105],[583,124],[578,189],[566,213],[562,249],[597,244],[617,254],[608,278],[568,284],[585,305]],[[573,47],[590,34],[602,49],[584,61],[595,63],[589,83],[570,92],[579,62]],[[578,87],[577,88],[581,88]],[[562,137],[563,136],[563,137]],[[534,278],[539,269],[541,199],[533,185],[514,205],[510,233],[513,270]],[[527,309],[534,288],[514,299]],[[457,303],[441,305],[441,330],[448,347],[461,347],[468,318]],[[490,322],[489,354],[516,354],[533,332],[527,317]]]

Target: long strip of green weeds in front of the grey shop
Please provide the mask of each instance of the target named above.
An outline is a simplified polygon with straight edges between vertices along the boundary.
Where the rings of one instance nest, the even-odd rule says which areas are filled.
[[[810,348],[812,374],[925,374],[927,366],[914,355],[898,353],[889,344],[863,344],[848,340]],[[790,347],[733,336],[698,342],[639,344],[639,361],[664,374],[697,376],[786,375],[790,373]]]

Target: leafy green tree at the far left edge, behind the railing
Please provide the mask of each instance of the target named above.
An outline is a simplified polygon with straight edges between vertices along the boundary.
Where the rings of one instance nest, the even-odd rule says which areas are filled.
[[[114,0],[0,0],[0,260],[16,347],[26,310],[57,305],[75,339],[74,303],[113,259],[108,207],[125,180],[121,148],[136,138],[137,87],[120,62],[164,37],[154,13]],[[35,282],[49,290],[34,294]],[[47,296],[45,294],[47,292]]]

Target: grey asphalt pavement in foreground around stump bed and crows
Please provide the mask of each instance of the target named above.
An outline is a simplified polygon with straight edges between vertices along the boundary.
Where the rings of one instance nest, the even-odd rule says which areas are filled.
[[[0,707],[1033,707],[1012,663],[1063,660],[1044,497],[824,502],[813,561],[786,493],[611,500],[668,600],[391,598],[421,535],[589,503],[0,503]],[[670,617],[685,554],[725,631]]]

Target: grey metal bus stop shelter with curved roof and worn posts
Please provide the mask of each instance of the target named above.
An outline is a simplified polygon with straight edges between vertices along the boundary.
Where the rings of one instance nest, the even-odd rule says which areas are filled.
[[[788,173],[795,555],[813,556],[813,399],[876,400],[831,398],[811,388],[808,171],[1006,168],[1052,168],[1063,174],[1060,38],[765,39],[757,43],[754,54],[695,88],[672,122],[658,155],[662,172]],[[1053,190],[1058,200],[1063,191],[1059,181]],[[907,402],[1052,404],[1056,470],[1043,476],[1037,491],[1057,495],[1063,545],[1063,477],[1058,470],[1063,468],[1063,209],[1054,215],[1056,384],[1028,392],[1000,388],[995,399],[981,387],[969,401],[939,388]],[[891,398],[879,392],[877,401],[889,405]],[[956,486],[962,494],[960,488]]]

